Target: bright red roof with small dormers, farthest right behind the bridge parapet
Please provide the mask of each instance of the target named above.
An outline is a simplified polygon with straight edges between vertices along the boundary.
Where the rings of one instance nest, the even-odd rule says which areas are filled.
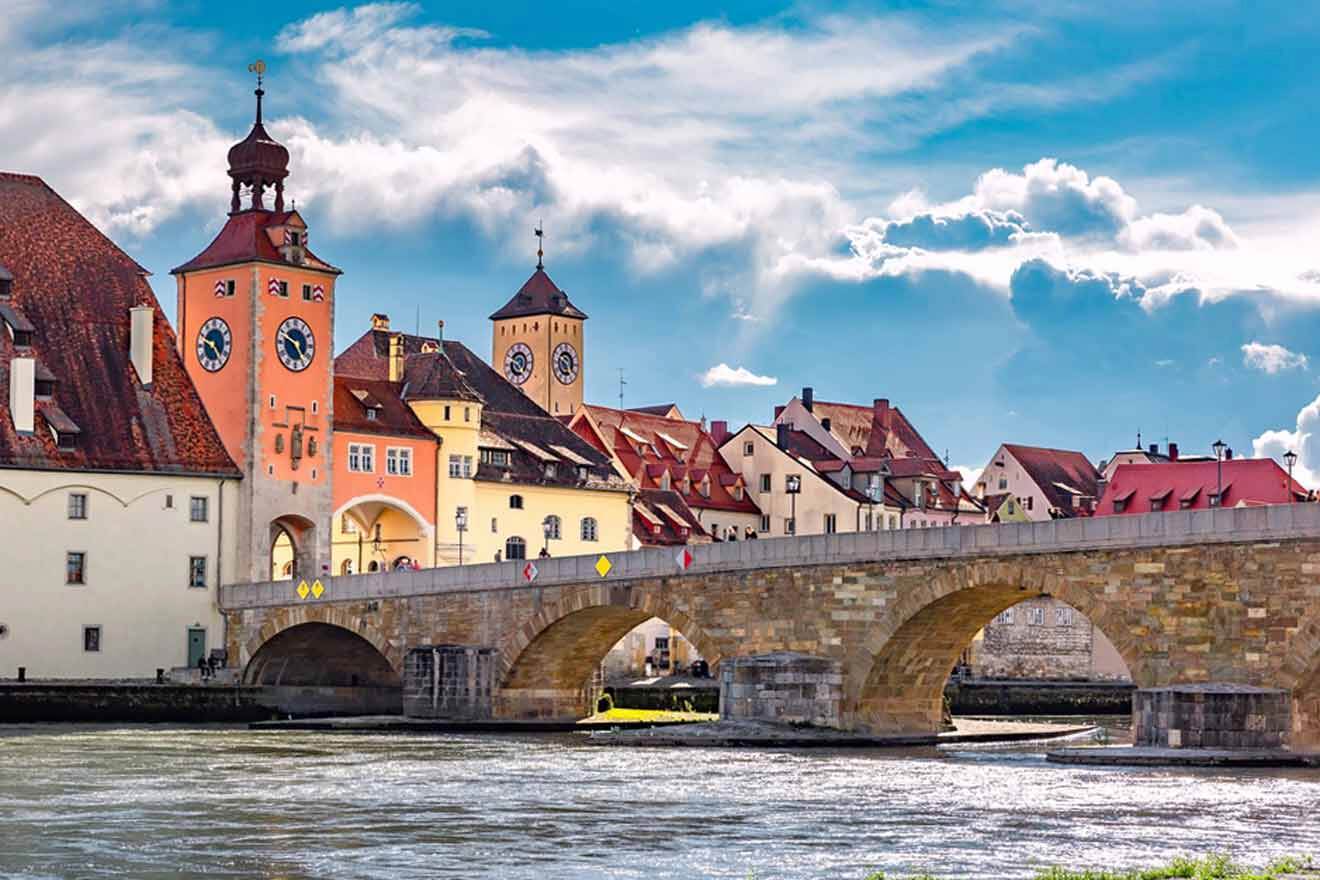
[[[1224,507],[1254,504],[1287,504],[1305,500],[1307,489],[1270,458],[1234,458],[1224,462]],[[1150,513],[1168,511],[1172,496],[1177,507],[1201,511],[1210,507],[1210,496],[1220,488],[1217,462],[1163,462],[1159,464],[1119,464],[1096,508],[1096,516]],[[1164,500],[1164,507],[1159,500]],[[1115,501],[1127,500],[1122,511]],[[1185,507],[1184,507],[1185,505]]]

